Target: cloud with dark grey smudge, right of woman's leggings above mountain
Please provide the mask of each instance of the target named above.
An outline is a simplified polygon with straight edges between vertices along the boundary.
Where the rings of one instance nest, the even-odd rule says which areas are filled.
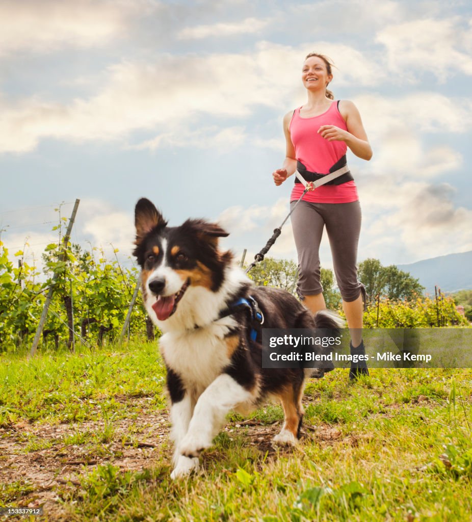
[[[454,194],[447,183],[394,176],[363,186],[361,259],[401,264],[472,250],[472,210],[455,207]]]

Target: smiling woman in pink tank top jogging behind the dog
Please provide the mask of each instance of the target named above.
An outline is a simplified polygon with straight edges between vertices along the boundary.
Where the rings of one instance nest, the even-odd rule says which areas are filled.
[[[372,149],[356,106],[347,100],[334,101],[327,89],[333,79],[332,64],[326,56],[310,53],[302,68],[308,100],[284,117],[287,153],[281,169],[273,172],[281,185],[298,170],[307,181],[315,174],[327,174],[346,165],[349,148],[359,158],[370,160]],[[308,192],[294,209],[291,221],[299,263],[298,293],[313,313],[326,308],[320,282],[319,248],[326,226],[333,266],[343,310],[351,334],[351,354],[365,354],[362,341],[362,313],[365,290],[357,280],[357,245],[361,209],[356,184],[349,172],[315,191]],[[291,207],[303,192],[296,179]],[[350,379],[369,374],[365,362],[351,363]]]

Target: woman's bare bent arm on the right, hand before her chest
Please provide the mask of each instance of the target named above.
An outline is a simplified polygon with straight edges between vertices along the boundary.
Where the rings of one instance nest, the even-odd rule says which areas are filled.
[[[318,134],[321,134],[328,141],[345,141],[346,145],[356,156],[363,160],[370,160],[372,158],[372,148],[367,139],[361,115],[356,105],[351,101],[343,100],[339,102],[339,112],[346,122],[347,131],[335,125],[322,125],[318,129]]]

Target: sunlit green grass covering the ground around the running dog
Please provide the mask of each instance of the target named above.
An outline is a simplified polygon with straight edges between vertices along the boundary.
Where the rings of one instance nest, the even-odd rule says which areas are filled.
[[[233,414],[204,452],[204,471],[182,482],[170,480],[167,436],[153,431],[166,411],[163,386],[156,346],[145,342],[3,355],[0,445],[14,440],[18,461],[52,455],[57,469],[74,452],[96,462],[53,483],[67,520],[472,519],[470,370],[375,369],[356,384],[336,370],[306,386],[296,449],[267,444],[279,406],[254,412],[252,426]],[[161,427],[168,431],[164,417]],[[138,446],[148,432],[158,447],[128,469],[126,448],[146,451]],[[38,484],[13,479],[0,483],[0,505],[27,505]],[[46,520],[60,519],[52,505]]]

